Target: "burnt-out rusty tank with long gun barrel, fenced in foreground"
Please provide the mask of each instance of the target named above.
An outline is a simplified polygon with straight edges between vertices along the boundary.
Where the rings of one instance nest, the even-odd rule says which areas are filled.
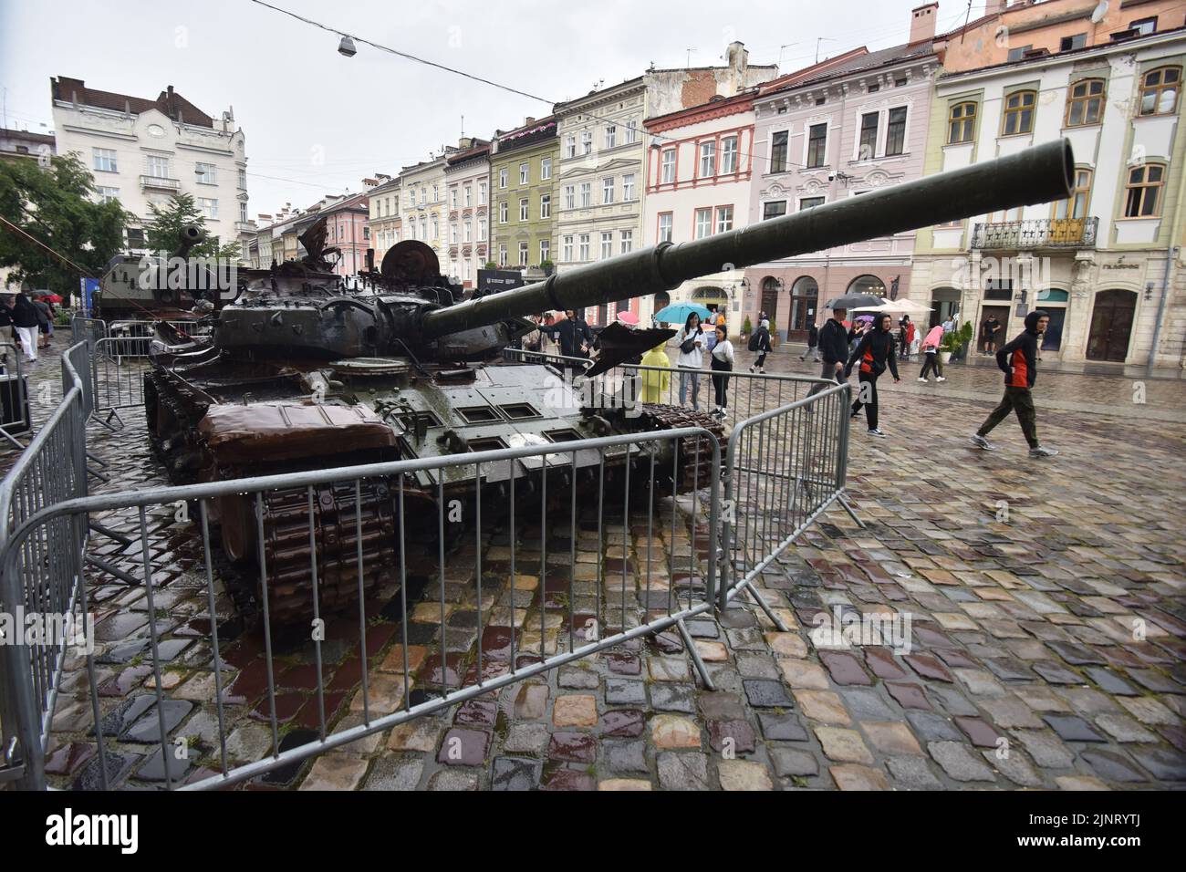
[[[217,314],[209,344],[181,343],[162,332],[146,375],[148,431],[179,483],[562,445],[689,425],[712,434],[702,439],[720,438],[716,419],[678,407],[640,405],[632,410],[637,414],[604,405],[582,408],[579,392],[559,370],[542,363],[505,364],[502,350],[534,329],[528,316],[544,311],[643,297],[722,269],[1060,199],[1069,196],[1071,167],[1070,146],[1051,142],[471,299],[461,299],[460,288],[440,275],[432,249],[416,241],[396,244],[378,270],[369,265],[347,284],[327,260],[334,249],[325,249],[319,222],[301,236],[305,257],[248,273],[244,292]],[[610,369],[674,332],[607,329],[589,371]],[[651,450],[672,451],[667,441],[653,446],[607,451],[607,480],[632,464],[649,464]],[[683,440],[678,457],[669,453],[667,463],[656,463],[656,470],[668,471],[657,488],[671,492],[702,485],[704,476],[715,473],[703,463],[709,448],[702,440]],[[693,454],[700,463],[691,462]],[[599,465],[598,452],[576,452],[575,470],[565,453],[498,462],[483,469],[480,488],[515,486],[518,495],[543,490],[540,479],[548,476],[550,494],[568,494],[580,484],[570,475],[594,479]],[[324,485],[313,489],[312,498],[304,486],[272,491],[262,497],[262,548],[253,497],[219,498],[212,520],[231,560],[251,562],[263,553],[273,620],[307,625],[310,511],[320,604],[344,607],[357,603],[357,529],[366,585],[389,578],[398,566],[397,484],[406,520],[431,518],[425,535],[434,539],[440,501],[473,498],[473,469],[429,469],[398,483],[369,478],[357,490],[353,484]]]

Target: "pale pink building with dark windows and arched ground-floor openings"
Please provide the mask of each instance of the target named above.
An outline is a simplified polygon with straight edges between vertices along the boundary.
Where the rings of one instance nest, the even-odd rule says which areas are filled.
[[[937,4],[911,13],[911,42],[831,58],[763,85],[753,100],[750,221],[802,211],[923,174]],[[910,293],[914,234],[868,240],[745,270],[779,333],[806,337],[846,292]]]

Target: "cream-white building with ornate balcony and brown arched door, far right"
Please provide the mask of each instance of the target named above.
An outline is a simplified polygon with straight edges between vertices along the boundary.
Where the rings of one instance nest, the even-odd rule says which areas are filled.
[[[1075,192],[920,231],[913,292],[935,301],[933,317],[957,308],[977,333],[995,314],[1015,335],[1042,307],[1044,359],[1180,365],[1186,32],[1095,43],[937,79],[927,172],[1066,138]]]

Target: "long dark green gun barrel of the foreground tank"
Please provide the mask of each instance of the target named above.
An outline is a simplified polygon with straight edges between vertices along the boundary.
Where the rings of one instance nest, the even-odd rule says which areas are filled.
[[[548,310],[584,308],[670,291],[701,275],[748,267],[1071,193],[1067,140],[927,176],[691,242],[651,248],[556,273],[547,280],[427,312],[434,339]]]

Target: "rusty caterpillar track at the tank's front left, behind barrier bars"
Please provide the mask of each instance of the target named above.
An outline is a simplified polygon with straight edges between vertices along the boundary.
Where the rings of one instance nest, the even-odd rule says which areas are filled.
[[[396,517],[388,485],[364,482],[361,494],[362,503],[358,504],[351,483],[313,488],[312,527],[321,615],[357,607],[359,516],[364,596],[397,572]],[[313,617],[308,491],[304,488],[270,491],[262,495],[261,503],[268,613],[273,626],[306,626]],[[218,501],[223,550],[232,561],[254,565],[262,603],[260,522],[255,507],[254,495]]]

